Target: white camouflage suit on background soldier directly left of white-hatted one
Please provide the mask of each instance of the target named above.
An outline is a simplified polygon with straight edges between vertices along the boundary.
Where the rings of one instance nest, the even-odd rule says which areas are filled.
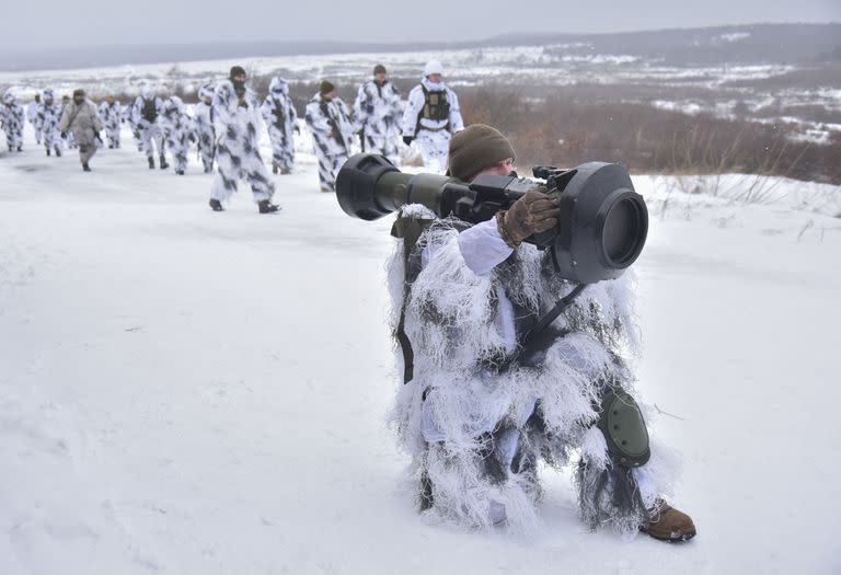
[[[359,87],[354,103],[354,131],[362,133],[365,151],[379,153],[398,163],[403,102],[390,81],[380,85],[370,80]]]

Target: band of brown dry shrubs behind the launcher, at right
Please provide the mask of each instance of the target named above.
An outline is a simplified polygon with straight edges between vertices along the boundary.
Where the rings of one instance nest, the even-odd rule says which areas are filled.
[[[794,125],[688,115],[643,103],[527,101],[498,87],[468,89],[460,97],[465,123],[492,124],[512,140],[521,170],[599,160],[637,173],[738,172],[841,183],[841,136],[829,145],[797,141]]]

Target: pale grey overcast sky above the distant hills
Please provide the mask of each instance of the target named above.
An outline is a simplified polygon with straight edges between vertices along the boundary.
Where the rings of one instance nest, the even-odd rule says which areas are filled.
[[[841,0],[8,0],[2,49],[253,41],[445,42],[509,32],[624,32],[841,22]]]

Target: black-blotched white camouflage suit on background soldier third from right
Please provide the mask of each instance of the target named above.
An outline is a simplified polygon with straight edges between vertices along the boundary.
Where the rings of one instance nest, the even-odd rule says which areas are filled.
[[[322,192],[336,191],[336,172],[350,157],[354,127],[347,105],[339,99],[327,101],[315,94],[307,104],[307,127],[312,133]]]

